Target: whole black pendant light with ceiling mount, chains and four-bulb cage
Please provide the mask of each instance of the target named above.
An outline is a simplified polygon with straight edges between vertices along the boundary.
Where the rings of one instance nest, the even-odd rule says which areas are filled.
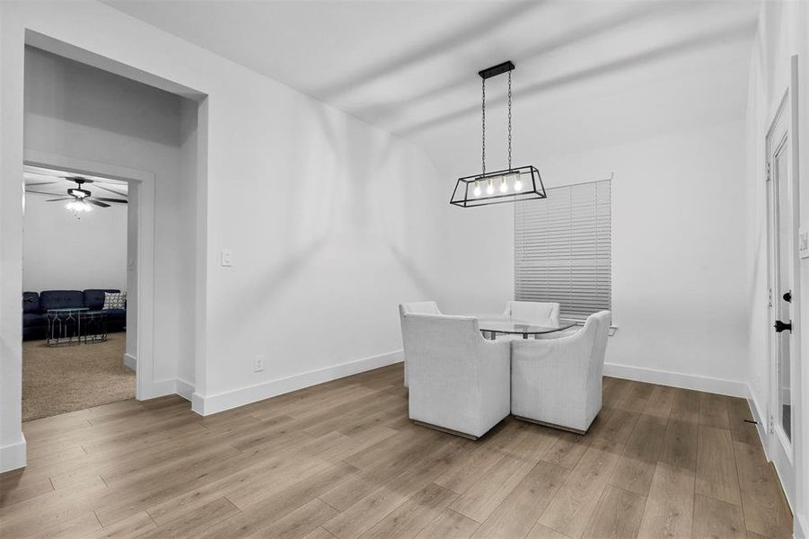
[[[540,171],[535,166],[511,165],[511,72],[514,64],[503,62],[488,67],[478,73],[482,84],[482,116],[483,136],[481,138],[481,164],[483,170],[479,174],[464,176],[455,183],[450,204],[461,208],[502,204],[515,200],[545,199],[545,186],[542,185]],[[486,172],[486,80],[497,75],[508,74],[508,167],[504,170]]]

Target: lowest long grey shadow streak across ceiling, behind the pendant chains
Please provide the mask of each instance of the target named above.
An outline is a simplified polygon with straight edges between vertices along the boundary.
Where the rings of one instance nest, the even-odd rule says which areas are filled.
[[[646,64],[664,60],[669,57],[676,57],[681,54],[695,52],[708,46],[721,46],[734,40],[747,40],[752,35],[752,32],[755,31],[755,28],[755,22],[745,22],[743,24],[725,28],[721,31],[710,31],[703,33],[699,36],[691,38],[690,40],[681,40],[680,42],[673,43],[672,45],[658,47],[657,49],[651,49],[630,57],[623,57],[618,60],[602,64],[601,66],[594,66],[567,75],[562,75],[554,79],[531,84],[530,86],[515,90],[514,98],[516,99],[549,92],[550,90],[555,90],[568,84],[579,83],[589,78],[609,75],[611,73],[620,72],[633,67],[644,66]],[[395,133],[400,136],[408,136],[418,131],[452,121],[453,119],[459,119],[470,114],[478,114],[479,110],[479,104],[470,105],[469,107],[464,107],[463,109],[454,110],[444,114],[443,116],[437,116],[408,127],[399,128],[395,131]]]

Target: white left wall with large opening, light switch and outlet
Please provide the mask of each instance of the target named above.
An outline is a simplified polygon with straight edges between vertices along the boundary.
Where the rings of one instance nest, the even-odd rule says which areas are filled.
[[[177,346],[181,340],[171,328],[180,321],[197,326],[191,330],[196,337],[195,410],[209,413],[400,358],[396,305],[432,296],[440,288],[437,272],[426,261],[435,260],[430,255],[439,248],[434,238],[441,231],[425,200],[432,204],[434,197],[444,195],[435,191],[435,169],[421,151],[103,4],[3,3],[0,24],[0,237],[2,270],[9,276],[0,296],[2,339],[9,351],[4,353],[0,387],[0,446],[10,447],[6,454],[22,444],[16,344],[22,247],[13,238],[21,213],[14,196],[22,172],[14,163],[22,163],[22,144],[17,143],[26,28],[114,60],[110,68],[207,95],[200,107],[207,125],[200,137],[196,230],[172,225],[171,213],[158,215],[157,223],[164,230],[158,241],[164,235],[175,237],[195,247],[204,261],[204,270],[195,271],[196,282],[194,276],[184,276],[200,290],[193,305],[182,304],[182,294],[171,298],[170,288],[158,286],[159,311],[162,297],[168,298],[162,311],[167,319],[155,323],[171,337],[156,344],[155,354],[176,351],[172,343]],[[47,118],[26,123],[30,121],[50,123]],[[88,129],[79,122],[71,128]],[[120,164],[155,170],[156,163],[148,167],[140,160],[147,147],[173,156],[179,146],[182,155],[176,137],[138,139],[116,133],[112,126],[105,135],[144,146],[133,154],[106,157],[93,146],[89,158],[127,160]],[[49,138],[57,153],[58,145],[80,142]],[[128,161],[135,158],[136,163]],[[177,174],[183,172],[169,177]],[[159,197],[173,196],[175,187],[158,184],[158,190],[166,190]],[[191,213],[172,208],[178,215]],[[231,268],[219,265],[224,248],[233,251]],[[158,252],[158,261],[177,256]],[[189,268],[183,263],[176,267]],[[6,307],[6,301],[13,301],[13,307]],[[253,357],[259,354],[266,357],[267,367],[254,373]]]

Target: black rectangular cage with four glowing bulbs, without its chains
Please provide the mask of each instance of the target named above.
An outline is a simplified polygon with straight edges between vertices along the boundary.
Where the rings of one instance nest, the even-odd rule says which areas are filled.
[[[529,165],[458,178],[450,204],[474,208],[546,197],[540,171]]]

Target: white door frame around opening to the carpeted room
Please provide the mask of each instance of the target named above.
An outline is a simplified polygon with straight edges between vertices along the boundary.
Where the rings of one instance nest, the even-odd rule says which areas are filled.
[[[129,263],[135,263],[135,319],[128,325],[136,328],[135,363],[136,396],[138,401],[166,394],[162,384],[154,379],[154,172],[139,171],[110,163],[98,163],[76,159],[66,155],[48,154],[25,150],[23,163],[31,166],[61,171],[102,176],[114,180],[127,181],[129,185],[129,211],[135,209],[136,252],[128,252],[127,283]],[[23,215],[24,219],[24,215]],[[128,219],[128,226],[132,223]],[[134,322],[134,324],[133,324]],[[121,358],[124,361],[124,358]],[[171,392],[173,393],[173,391]]]

